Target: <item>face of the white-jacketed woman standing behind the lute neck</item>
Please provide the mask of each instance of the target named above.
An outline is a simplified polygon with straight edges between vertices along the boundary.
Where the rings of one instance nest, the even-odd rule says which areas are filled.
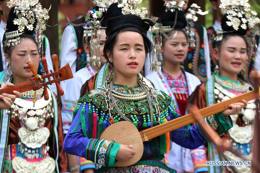
[[[176,31],[172,31],[170,37],[173,37]],[[188,53],[187,38],[182,31],[177,31],[176,38],[172,40],[166,39],[161,48],[164,62],[172,64],[180,64],[187,57]]]

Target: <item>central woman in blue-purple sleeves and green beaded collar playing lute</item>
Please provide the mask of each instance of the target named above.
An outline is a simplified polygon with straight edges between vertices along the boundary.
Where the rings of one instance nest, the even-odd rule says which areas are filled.
[[[66,152],[102,165],[96,172],[176,172],[164,162],[164,153],[169,151],[170,141],[185,148],[197,148],[205,142],[203,132],[197,126],[187,125],[143,142],[143,154],[137,163],[115,167],[117,161],[127,163],[139,153],[132,150],[131,142],[124,145],[114,139],[113,142],[99,139],[110,124],[127,121],[132,126],[130,129],[141,131],[180,117],[170,96],[149,88],[142,78],[137,77],[143,69],[146,54],[151,52],[152,43],[147,38],[151,26],[154,26],[152,21],[133,14],[107,20],[104,55],[110,64],[109,75],[103,86],[79,99],[63,145]],[[223,120],[218,125],[224,131],[231,125],[223,116],[236,114],[237,110],[246,106],[246,101],[229,106],[230,109],[215,116]],[[124,129],[121,127],[121,130],[112,131],[111,135],[127,135],[123,133]]]

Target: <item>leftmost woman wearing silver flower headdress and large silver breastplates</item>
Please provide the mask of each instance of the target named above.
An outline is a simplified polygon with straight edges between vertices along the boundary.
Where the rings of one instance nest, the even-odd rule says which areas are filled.
[[[8,68],[0,73],[1,86],[25,83],[36,76],[39,52],[42,51],[38,45],[43,44],[40,39],[43,34],[39,30],[44,30],[49,17],[46,9],[40,3],[36,5],[36,1],[16,2],[8,1],[14,7],[10,10],[3,37]],[[32,63],[34,70],[29,68]],[[67,155],[62,147],[60,106],[57,96],[45,87],[22,92],[21,98],[11,102],[11,108],[0,110],[1,172],[68,172]]]

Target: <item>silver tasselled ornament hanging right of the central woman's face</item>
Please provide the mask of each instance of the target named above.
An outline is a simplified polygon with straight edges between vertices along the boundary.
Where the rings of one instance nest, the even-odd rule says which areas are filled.
[[[177,32],[174,34],[173,38],[167,36],[161,24],[156,23],[158,17],[152,17],[151,21],[154,23],[154,26],[150,27],[148,32],[154,33],[153,36],[153,46],[152,46],[152,59],[150,63],[150,71],[161,71],[161,62],[160,62],[160,51],[162,46],[162,34],[165,38],[171,40],[176,37]]]

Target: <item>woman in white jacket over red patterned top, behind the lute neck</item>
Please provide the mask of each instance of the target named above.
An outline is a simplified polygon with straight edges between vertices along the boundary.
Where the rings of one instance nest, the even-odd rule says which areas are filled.
[[[178,9],[173,12],[170,10],[164,11],[160,20],[169,37],[173,37],[176,32],[177,35],[172,40],[163,37],[161,47],[162,70],[153,72],[146,78],[153,83],[155,88],[171,96],[177,110],[181,115],[185,115],[187,114],[188,97],[201,84],[195,75],[186,72],[182,66],[184,60],[188,58],[189,38],[184,31],[187,21],[184,12]],[[173,142],[169,154],[165,156],[169,162],[168,166],[176,169],[177,172],[194,172],[189,149]]]

